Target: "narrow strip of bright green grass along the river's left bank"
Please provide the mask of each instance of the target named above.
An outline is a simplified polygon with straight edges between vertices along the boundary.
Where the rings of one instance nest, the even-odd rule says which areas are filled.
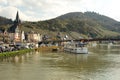
[[[23,49],[23,50],[18,50],[18,51],[3,52],[3,53],[0,53],[0,58],[21,55],[21,54],[25,54],[30,51],[33,51],[33,49]]]

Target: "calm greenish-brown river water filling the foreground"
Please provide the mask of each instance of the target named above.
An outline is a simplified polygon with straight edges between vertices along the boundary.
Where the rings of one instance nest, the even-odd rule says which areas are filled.
[[[0,80],[120,80],[120,48],[31,52],[0,60]]]

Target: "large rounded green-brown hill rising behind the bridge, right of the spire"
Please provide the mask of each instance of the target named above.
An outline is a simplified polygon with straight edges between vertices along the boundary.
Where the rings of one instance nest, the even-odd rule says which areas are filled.
[[[119,22],[95,12],[72,12],[51,20],[33,22],[31,25],[38,26],[39,29],[43,30],[75,32],[91,37],[114,37],[120,35]]]

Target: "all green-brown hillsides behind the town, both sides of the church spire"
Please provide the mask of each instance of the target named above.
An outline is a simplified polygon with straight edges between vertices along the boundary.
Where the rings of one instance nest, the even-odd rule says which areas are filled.
[[[11,19],[0,17],[1,30],[8,29],[12,23]],[[50,36],[60,32],[71,38],[120,38],[120,22],[95,12],[72,12],[50,20],[22,22],[21,29],[25,32],[34,30]]]

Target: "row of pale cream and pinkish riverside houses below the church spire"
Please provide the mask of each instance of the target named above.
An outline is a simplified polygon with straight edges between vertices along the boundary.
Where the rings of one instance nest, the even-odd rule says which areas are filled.
[[[12,43],[12,42],[39,42],[42,40],[42,35],[36,32],[25,33],[9,33],[0,31],[0,42]]]

